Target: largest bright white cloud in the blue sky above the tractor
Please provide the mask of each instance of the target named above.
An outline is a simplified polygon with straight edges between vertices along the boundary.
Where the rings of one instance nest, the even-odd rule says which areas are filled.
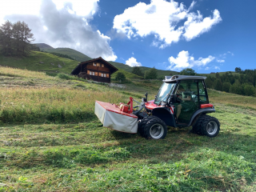
[[[199,12],[190,13],[194,4],[193,1],[186,9],[182,3],[178,4],[173,0],[151,0],[148,5],[139,2],[124,10],[123,14],[116,15],[113,28],[118,33],[126,34],[128,38],[143,38],[152,34],[155,38],[152,45],[160,48],[178,42],[182,36],[189,41],[222,20],[218,10],[214,10],[213,18],[203,18]]]

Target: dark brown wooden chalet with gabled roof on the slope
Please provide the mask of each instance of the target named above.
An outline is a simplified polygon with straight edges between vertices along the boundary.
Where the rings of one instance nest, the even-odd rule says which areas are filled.
[[[117,70],[117,68],[100,57],[79,63],[78,66],[72,70],[71,74],[97,82],[110,82],[110,75]]]

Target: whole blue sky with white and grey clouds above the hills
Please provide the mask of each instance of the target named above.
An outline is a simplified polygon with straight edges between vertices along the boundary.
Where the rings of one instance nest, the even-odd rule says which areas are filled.
[[[197,73],[255,69],[254,0],[8,0],[0,24],[24,21],[34,43],[91,58]]]

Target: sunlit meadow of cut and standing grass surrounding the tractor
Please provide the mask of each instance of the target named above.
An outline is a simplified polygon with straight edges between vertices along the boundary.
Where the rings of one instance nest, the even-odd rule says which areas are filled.
[[[94,102],[150,99],[126,89],[0,67],[0,191],[255,191],[255,98],[209,90],[216,138],[169,127],[146,140],[102,127]]]

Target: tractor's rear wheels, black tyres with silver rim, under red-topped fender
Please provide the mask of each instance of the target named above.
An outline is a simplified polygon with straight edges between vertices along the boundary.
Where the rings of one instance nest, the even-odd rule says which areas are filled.
[[[220,124],[218,119],[203,114],[200,118],[198,118],[198,122],[193,126],[192,132],[214,138],[217,136],[219,130]]]

